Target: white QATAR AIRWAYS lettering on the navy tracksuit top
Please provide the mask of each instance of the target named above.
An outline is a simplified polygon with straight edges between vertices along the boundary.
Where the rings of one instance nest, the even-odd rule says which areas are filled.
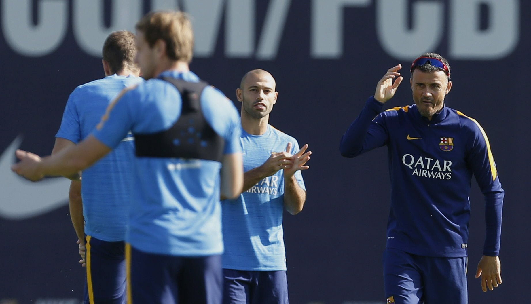
[[[411,154],[404,154],[402,163],[413,170],[411,175],[435,179],[452,178],[452,162],[449,160],[438,160],[422,156],[415,158]]]

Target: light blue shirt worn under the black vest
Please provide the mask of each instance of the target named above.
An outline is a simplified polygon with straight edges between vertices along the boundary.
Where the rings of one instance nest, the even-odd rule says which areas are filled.
[[[161,76],[199,81],[192,72],[166,71]],[[200,102],[205,119],[225,141],[223,153],[241,153],[241,125],[232,101],[207,86]],[[108,119],[93,135],[114,148],[129,130],[133,134],[165,131],[181,115],[181,105],[181,94],[173,84],[150,79],[110,107]],[[218,161],[135,157],[126,241],[151,254],[221,254],[220,168]]]

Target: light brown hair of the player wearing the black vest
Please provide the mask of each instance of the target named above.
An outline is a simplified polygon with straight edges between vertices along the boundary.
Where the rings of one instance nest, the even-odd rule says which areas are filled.
[[[192,61],[194,34],[188,14],[179,11],[151,12],[136,23],[136,30],[143,33],[150,48],[157,40],[164,41],[170,60]]]

